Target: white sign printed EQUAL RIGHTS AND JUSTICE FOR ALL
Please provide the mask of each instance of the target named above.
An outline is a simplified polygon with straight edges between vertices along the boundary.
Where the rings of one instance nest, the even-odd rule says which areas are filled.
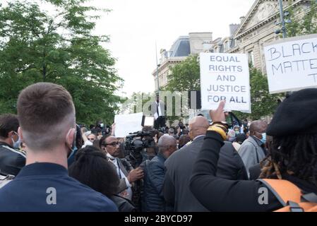
[[[246,54],[201,53],[201,107],[251,112],[249,62]]]

